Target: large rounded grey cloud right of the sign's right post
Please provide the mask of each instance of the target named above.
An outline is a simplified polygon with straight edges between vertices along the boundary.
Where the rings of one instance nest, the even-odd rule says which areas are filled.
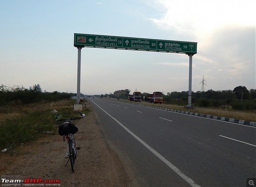
[[[193,76],[201,74],[219,83],[255,82],[255,36],[255,26],[248,25],[225,25],[209,32],[200,39],[203,43],[198,41]]]

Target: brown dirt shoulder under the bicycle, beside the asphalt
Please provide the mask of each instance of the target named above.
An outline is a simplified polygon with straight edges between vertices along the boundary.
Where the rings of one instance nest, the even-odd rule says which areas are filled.
[[[90,104],[86,104],[86,108]],[[0,152],[1,178],[7,180],[41,178],[59,179],[60,183],[7,183],[1,186],[137,186],[136,178],[124,160],[106,143],[95,115],[90,112],[82,120],[75,121],[79,131],[75,134],[76,147],[81,147],[75,161],[75,172],[65,159],[67,141],[60,135],[48,135],[33,143],[21,144],[15,150]]]

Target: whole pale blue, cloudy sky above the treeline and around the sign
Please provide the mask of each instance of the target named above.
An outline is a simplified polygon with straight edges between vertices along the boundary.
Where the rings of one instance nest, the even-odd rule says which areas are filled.
[[[192,91],[256,89],[255,0],[1,0],[0,84],[77,91],[74,33],[197,42]],[[204,77],[204,84],[202,80]],[[188,91],[189,56],[84,47],[80,92]]]

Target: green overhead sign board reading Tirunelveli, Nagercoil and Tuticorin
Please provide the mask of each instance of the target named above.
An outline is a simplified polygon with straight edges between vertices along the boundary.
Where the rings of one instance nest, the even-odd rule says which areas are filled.
[[[196,42],[130,38],[94,34],[74,34],[74,46],[105,47],[146,51],[197,53]]]

